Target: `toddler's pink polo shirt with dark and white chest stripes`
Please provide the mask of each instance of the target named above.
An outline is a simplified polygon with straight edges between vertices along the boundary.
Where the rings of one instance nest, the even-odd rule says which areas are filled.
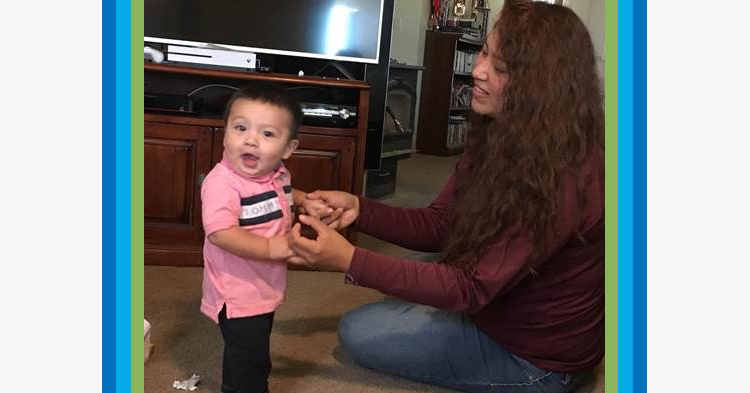
[[[227,318],[276,310],[284,301],[286,263],[252,260],[224,251],[208,235],[233,226],[265,237],[286,233],[292,225],[292,187],[283,164],[262,177],[235,172],[222,160],[201,186],[203,206],[203,299],[201,311],[214,322],[226,304]]]

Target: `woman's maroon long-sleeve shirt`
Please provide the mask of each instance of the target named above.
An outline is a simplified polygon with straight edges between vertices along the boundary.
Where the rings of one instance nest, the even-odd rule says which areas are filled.
[[[409,249],[439,251],[450,230],[448,208],[459,168],[426,208],[395,208],[361,198],[357,228]],[[603,161],[592,158],[581,171],[584,207],[576,199],[574,174],[564,174],[555,237],[535,266],[537,274],[529,269],[530,236],[522,234],[501,236],[471,273],[357,247],[347,281],[465,313],[488,336],[537,367],[592,369],[604,356]]]

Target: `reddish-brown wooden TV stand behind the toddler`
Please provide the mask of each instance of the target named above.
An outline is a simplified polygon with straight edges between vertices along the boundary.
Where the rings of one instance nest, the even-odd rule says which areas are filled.
[[[362,194],[370,86],[362,81],[284,74],[144,64],[146,89],[187,94],[208,84],[242,86],[251,80],[284,86],[331,89],[351,96],[356,128],[303,125],[299,148],[285,161],[292,186],[302,191],[342,190]],[[156,87],[154,87],[156,86]],[[148,92],[148,90],[147,90]],[[230,92],[231,93],[231,92]],[[200,184],[220,161],[224,124],[219,113],[144,114],[144,261],[147,265],[201,266],[203,226]],[[350,238],[354,232],[349,232]]]

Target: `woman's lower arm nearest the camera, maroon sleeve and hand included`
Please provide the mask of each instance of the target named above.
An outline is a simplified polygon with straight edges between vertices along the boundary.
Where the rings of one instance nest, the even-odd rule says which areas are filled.
[[[396,258],[354,247],[313,217],[301,215],[300,221],[310,225],[318,237],[316,240],[302,237],[300,225],[296,224],[289,240],[296,256],[288,260],[290,263],[346,272],[347,280],[353,284],[411,302],[474,312],[500,290],[528,274],[530,246],[525,237],[498,241],[469,273],[450,265]]]

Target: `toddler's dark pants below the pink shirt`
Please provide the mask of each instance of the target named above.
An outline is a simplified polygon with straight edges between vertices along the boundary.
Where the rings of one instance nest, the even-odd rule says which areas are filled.
[[[226,306],[222,308],[219,327],[224,337],[223,393],[263,393],[268,389],[273,315],[227,319]]]

